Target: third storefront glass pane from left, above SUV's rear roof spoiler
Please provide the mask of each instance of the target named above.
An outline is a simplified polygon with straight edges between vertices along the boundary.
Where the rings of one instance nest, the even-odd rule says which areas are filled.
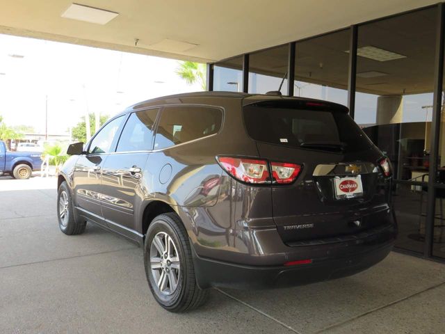
[[[294,96],[348,104],[350,29],[296,43]]]

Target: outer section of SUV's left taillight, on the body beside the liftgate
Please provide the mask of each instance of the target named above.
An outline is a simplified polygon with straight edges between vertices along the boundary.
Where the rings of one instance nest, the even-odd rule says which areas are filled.
[[[218,157],[218,161],[236,180],[253,184],[270,183],[266,160]]]

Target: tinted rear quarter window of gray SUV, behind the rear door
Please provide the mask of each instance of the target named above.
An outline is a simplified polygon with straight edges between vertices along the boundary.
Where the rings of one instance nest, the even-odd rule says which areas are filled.
[[[203,106],[166,107],[161,113],[154,149],[193,141],[216,134],[223,123],[220,109]]]

